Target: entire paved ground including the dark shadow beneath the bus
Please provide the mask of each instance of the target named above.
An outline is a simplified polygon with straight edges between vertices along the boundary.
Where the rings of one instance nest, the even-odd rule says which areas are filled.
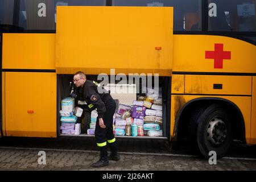
[[[256,146],[234,142],[232,150],[217,164],[189,151],[186,143],[169,150],[165,140],[118,139],[119,162],[92,168],[98,160],[94,138],[61,137],[57,139],[0,139],[0,170],[110,170],[110,171],[250,171],[256,170]],[[39,151],[46,152],[46,164],[38,164]]]

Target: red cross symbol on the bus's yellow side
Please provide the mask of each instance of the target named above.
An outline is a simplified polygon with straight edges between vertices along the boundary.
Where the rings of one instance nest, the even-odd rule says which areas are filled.
[[[223,51],[223,44],[214,44],[214,51],[205,51],[205,59],[214,59],[214,68],[223,68],[223,60],[231,59],[231,51]]]

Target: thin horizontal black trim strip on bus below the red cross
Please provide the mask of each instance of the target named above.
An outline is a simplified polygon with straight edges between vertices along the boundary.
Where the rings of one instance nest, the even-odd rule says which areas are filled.
[[[256,76],[256,73],[227,73],[227,72],[172,72],[172,75],[230,75],[230,76]]]

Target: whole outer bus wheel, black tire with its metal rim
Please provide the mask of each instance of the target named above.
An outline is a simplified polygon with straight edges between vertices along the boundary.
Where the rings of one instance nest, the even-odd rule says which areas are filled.
[[[232,146],[233,129],[230,113],[222,106],[213,104],[200,116],[197,127],[197,144],[201,154],[209,158],[209,152],[215,151],[222,158]]]

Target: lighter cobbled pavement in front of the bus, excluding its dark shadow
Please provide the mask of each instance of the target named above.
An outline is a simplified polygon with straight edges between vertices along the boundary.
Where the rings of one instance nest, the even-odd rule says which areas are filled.
[[[38,150],[0,149],[1,170],[256,170],[256,160],[219,159],[210,165],[208,160],[196,157],[121,154],[119,162],[108,167],[92,168],[98,152],[46,151],[46,164],[38,164]]]

